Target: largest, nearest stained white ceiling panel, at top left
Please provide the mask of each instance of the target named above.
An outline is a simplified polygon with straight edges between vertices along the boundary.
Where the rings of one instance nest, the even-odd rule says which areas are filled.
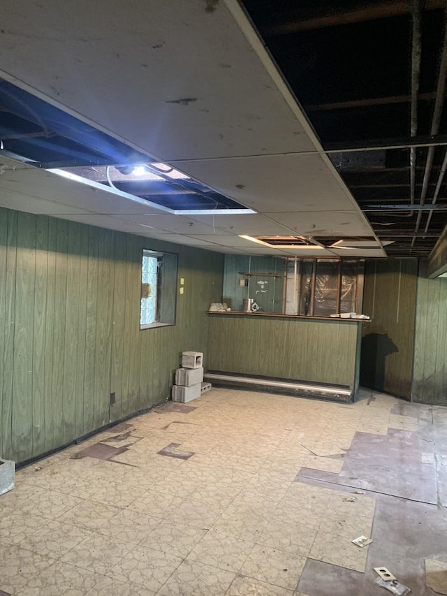
[[[1,68],[167,161],[314,150],[227,4],[6,0]]]

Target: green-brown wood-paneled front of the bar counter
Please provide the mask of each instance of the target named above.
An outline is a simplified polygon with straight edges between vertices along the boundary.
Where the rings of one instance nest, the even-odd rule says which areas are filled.
[[[210,314],[208,368],[353,387],[358,323]]]

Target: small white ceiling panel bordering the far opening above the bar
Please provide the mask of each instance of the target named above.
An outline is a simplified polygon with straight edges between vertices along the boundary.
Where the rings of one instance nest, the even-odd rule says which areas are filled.
[[[369,224],[358,211],[269,213],[272,219],[305,236],[369,236]]]

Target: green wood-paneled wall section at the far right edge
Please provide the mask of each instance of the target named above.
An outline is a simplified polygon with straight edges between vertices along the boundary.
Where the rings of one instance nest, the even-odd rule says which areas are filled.
[[[447,405],[447,279],[418,278],[412,397]]]

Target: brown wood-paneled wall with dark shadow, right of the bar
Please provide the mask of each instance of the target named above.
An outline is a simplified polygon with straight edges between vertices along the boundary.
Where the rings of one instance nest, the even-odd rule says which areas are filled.
[[[360,384],[411,398],[416,308],[416,259],[367,261]]]

